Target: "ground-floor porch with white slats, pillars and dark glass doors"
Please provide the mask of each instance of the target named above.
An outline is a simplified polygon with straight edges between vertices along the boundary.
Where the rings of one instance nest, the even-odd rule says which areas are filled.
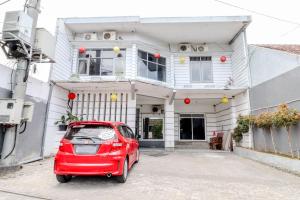
[[[72,112],[85,120],[123,121],[141,147],[207,149],[210,137],[229,133],[248,111],[245,89],[180,89],[142,81],[57,82],[75,92]],[[112,100],[115,94],[117,99]],[[227,104],[220,103],[226,96]],[[190,103],[184,102],[185,98]]]

